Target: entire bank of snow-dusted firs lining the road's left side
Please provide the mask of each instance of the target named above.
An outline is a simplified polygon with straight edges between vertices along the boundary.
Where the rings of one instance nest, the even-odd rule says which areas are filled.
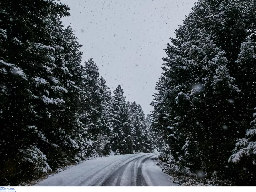
[[[92,58],[82,64],[82,45],[61,24],[68,11],[54,0],[0,3],[2,185],[89,155],[153,149],[141,107],[131,110],[120,85],[112,96]]]

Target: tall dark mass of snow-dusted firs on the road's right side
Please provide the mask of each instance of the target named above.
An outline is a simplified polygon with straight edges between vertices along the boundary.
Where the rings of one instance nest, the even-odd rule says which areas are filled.
[[[217,172],[239,185],[256,183],[247,171],[255,171],[249,147],[255,141],[249,127],[256,106],[255,9],[252,0],[195,3],[165,49],[151,103],[152,127],[169,144],[177,165]]]

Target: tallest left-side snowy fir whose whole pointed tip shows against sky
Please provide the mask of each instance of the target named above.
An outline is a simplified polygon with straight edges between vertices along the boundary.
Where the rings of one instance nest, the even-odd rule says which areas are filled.
[[[52,163],[59,162],[58,167],[69,161],[81,162],[86,157],[86,131],[88,127],[82,123],[83,103],[86,99],[83,90],[85,69],[82,66],[81,45],[73,34],[72,27],[63,30],[63,33],[56,38],[58,45],[54,48],[55,55],[55,78],[56,89],[59,97],[65,100],[62,108],[55,109],[52,115],[55,119],[56,128],[51,132],[53,138],[61,148],[59,158],[51,158]],[[52,126],[53,127],[53,126]],[[55,150],[50,150],[56,154]],[[61,158],[63,156],[63,158]],[[54,168],[56,168],[56,166]]]

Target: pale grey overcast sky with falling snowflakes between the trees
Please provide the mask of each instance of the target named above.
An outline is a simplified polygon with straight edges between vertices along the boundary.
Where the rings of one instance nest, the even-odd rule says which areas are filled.
[[[153,110],[155,85],[162,73],[166,44],[175,37],[196,0],[61,0],[70,7],[71,25],[111,91],[120,84],[127,101]]]

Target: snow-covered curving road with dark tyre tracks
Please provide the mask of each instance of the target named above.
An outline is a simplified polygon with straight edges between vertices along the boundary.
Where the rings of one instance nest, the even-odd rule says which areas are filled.
[[[153,159],[157,153],[117,155],[83,162],[35,186],[175,186]]]

